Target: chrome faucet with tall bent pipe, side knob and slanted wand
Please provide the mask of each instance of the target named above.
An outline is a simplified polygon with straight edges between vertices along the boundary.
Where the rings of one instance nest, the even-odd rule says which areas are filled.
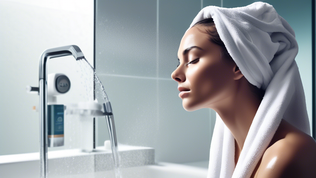
[[[47,49],[40,57],[40,70],[39,70],[39,87],[27,87],[28,92],[39,93],[40,103],[39,103],[39,120],[40,120],[40,178],[47,178],[47,151],[48,151],[48,110],[47,110],[47,60],[51,58],[73,55],[76,60],[86,60],[83,56],[80,48],[76,45],[64,46],[59,48]],[[86,60],[89,64],[89,62]],[[90,64],[89,64],[90,65]],[[94,68],[90,65],[94,70]],[[95,71],[94,71],[95,72]],[[95,75],[99,80],[99,78]],[[118,155],[118,144],[116,140],[116,132],[114,125],[113,111],[110,101],[105,99],[103,104],[104,113],[103,116],[106,117],[107,126],[110,135],[112,153],[114,158],[115,167],[119,167],[119,155]]]

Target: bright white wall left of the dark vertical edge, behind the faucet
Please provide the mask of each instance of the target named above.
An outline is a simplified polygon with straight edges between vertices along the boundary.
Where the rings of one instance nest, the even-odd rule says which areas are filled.
[[[39,85],[40,55],[49,48],[77,45],[93,64],[93,12],[93,0],[0,1],[0,155],[39,151],[39,114],[32,110],[39,96],[28,94],[26,86]],[[60,103],[84,98],[77,71],[72,56],[49,61],[48,73],[64,73],[71,81],[70,91],[58,96]],[[77,128],[65,124],[70,129]],[[72,139],[78,140],[75,133]]]

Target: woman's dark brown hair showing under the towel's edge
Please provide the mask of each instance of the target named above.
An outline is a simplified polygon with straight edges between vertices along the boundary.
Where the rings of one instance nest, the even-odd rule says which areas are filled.
[[[192,27],[197,26],[197,25],[202,26],[202,27],[207,27],[207,28],[205,28],[205,31],[201,31],[200,29],[198,29],[198,30],[202,33],[208,34],[209,35],[208,39],[210,42],[221,46],[221,48],[222,48],[222,51],[220,53],[221,59],[228,60],[230,62],[235,62],[233,60],[233,58],[230,56],[230,54],[228,53],[224,42],[221,40],[220,36],[218,35],[213,18],[207,18],[207,19],[198,21]],[[257,86],[252,85],[249,81],[248,81],[248,84],[249,84],[249,87],[250,87],[252,94],[254,96],[258,97],[260,100],[262,100],[265,91],[261,88],[258,88]]]

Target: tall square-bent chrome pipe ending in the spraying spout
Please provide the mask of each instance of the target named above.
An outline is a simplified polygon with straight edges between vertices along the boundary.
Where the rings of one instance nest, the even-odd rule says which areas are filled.
[[[39,68],[39,121],[40,121],[40,177],[47,176],[47,60],[51,58],[73,55],[76,60],[84,59],[80,48],[76,45],[47,49],[40,57]]]

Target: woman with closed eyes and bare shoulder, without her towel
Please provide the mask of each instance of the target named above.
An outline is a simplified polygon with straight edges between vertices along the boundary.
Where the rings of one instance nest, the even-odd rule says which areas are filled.
[[[187,30],[180,42],[178,60],[171,77],[179,84],[184,109],[211,108],[217,112],[234,136],[236,165],[264,90],[241,73],[212,18]],[[251,177],[315,177],[315,158],[313,137],[282,119]]]

